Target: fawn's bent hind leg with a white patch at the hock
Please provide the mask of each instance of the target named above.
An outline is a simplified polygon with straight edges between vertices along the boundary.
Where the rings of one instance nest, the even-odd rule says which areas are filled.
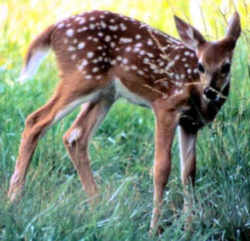
[[[97,186],[90,168],[88,145],[94,130],[101,124],[112,103],[110,100],[102,99],[84,104],[77,119],[63,137],[83,188],[90,197],[97,194]]]

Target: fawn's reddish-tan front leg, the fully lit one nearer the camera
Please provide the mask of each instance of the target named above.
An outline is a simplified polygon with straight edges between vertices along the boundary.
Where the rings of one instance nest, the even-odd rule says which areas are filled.
[[[164,187],[171,170],[171,147],[175,128],[178,122],[177,111],[169,111],[154,106],[156,115],[155,160],[154,160],[154,208],[150,224],[150,232],[158,229]]]

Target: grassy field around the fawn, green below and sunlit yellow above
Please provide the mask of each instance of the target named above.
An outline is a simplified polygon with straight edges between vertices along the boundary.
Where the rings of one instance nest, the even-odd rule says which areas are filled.
[[[91,165],[100,189],[100,202],[95,207],[91,209],[88,205],[62,143],[63,133],[79,109],[53,126],[40,141],[22,200],[16,205],[8,202],[8,182],[25,118],[48,100],[58,80],[51,54],[33,80],[24,85],[15,82],[28,43],[37,33],[62,16],[94,8],[135,16],[175,36],[173,13],[197,21],[189,9],[193,1],[183,0],[177,5],[177,1],[159,0],[157,6],[157,1],[103,0],[95,4],[84,1],[83,5],[80,2],[83,1],[0,1],[0,240],[249,241],[250,4],[247,0],[238,1],[237,5],[243,33],[235,51],[230,98],[198,138],[191,234],[183,231],[185,216],[177,138],[161,217],[165,231],[155,237],[148,234],[153,194],[154,118],[150,110],[126,100],[112,107],[91,142]],[[235,6],[233,1],[228,1],[228,12],[223,15],[218,10],[223,1],[213,1],[210,7],[206,6],[208,2],[203,3],[207,25],[201,25],[200,29],[209,38],[222,37],[224,17]],[[171,20],[165,21],[166,18]]]

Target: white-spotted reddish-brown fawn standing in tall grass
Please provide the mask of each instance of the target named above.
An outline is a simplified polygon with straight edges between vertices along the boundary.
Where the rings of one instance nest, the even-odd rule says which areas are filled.
[[[89,196],[97,194],[88,145],[112,104],[125,97],[155,114],[154,208],[156,227],[171,169],[171,146],[179,126],[181,180],[195,179],[197,132],[212,121],[229,94],[230,66],[241,32],[235,13],[225,37],[208,42],[175,17],[182,41],[137,20],[92,11],[50,26],[30,45],[20,81],[52,48],[60,83],[51,100],[28,116],[8,196],[20,195],[39,138],[78,105],[82,110],[63,140]],[[185,205],[185,203],[184,203]]]

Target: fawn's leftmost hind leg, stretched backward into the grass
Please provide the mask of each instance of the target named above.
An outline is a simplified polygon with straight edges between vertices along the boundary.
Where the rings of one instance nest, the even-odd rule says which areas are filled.
[[[84,101],[91,101],[98,95],[97,93],[89,92],[88,88],[64,90],[63,83],[60,83],[51,100],[26,119],[15,171],[10,180],[8,197],[11,201],[14,201],[22,192],[32,155],[36,149],[38,140],[46,130],[61,120],[76,106]]]

